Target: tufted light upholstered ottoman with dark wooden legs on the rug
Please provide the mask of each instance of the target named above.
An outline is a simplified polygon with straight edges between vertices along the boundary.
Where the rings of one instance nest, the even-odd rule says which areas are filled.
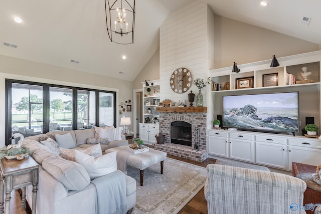
[[[124,149],[127,150],[127,148],[125,148],[126,146],[127,145],[110,148],[105,150],[105,153],[110,153],[113,151],[119,152]],[[163,174],[164,160],[166,159],[166,156],[167,156],[167,153],[164,151],[159,151],[159,150],[149,148],[149,151],[146,151],[146,152],[142,152],[138,154],[130,154],[127,157],[126,164],[139,169],[140,185],[142,186],[143,180],[144,180],[144,169],[151,165],[161,162],[161,174]]]

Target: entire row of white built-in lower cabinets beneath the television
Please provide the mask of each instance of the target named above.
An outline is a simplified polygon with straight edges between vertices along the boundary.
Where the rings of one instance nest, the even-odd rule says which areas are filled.
[[[208,154],[292,170],[292,162],[318,165],[321,141],[316,138],[249,131],[208,130]]]

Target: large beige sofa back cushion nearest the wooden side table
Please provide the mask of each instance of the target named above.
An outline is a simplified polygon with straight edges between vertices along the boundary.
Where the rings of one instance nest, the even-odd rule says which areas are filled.
[[[59,156],[45,158],[42,167],[59,180],[67,190],[81,190],[90,183],[90,177],[81,164]]]

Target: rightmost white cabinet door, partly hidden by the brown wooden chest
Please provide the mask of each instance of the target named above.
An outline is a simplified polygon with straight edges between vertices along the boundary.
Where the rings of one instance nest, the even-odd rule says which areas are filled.
[[[289,170],[292,170],[292,162],[305,163],[317,166],[320,164],[321,150],[300,146],[288,146]]]

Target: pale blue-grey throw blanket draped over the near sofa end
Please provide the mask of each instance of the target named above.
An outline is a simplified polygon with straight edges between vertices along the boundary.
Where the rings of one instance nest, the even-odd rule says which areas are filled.
[[[96,214],[122,214],[127,212],[126,177],[121,171],[92,180],[96,186]]]

